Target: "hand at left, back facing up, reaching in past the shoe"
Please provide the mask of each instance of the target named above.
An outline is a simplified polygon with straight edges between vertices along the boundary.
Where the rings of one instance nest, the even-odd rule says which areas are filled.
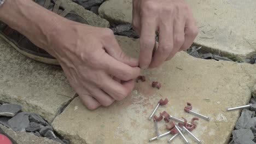
[[[50,40],[48,52],[88,109],[108,106],[132,91],[140,73],[138,61],[125,55],[109,28],[66,20]]]

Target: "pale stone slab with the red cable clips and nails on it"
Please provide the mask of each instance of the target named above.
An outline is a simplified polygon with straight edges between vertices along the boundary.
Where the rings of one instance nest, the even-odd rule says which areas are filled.
[[[117,39],[126,53],[138,56],[138,40],[120,36]],[[189,101],[194,111],[211,117],[210,122],[200,119],[193,133],[203,143],[226,143],[240,111],[225,112],[225,109],[248,103],[250,88],[256,82],[255,70],[255,65],[251,64],[199,59],[179,52],[158,69],[142,71],[146,82],[137,83],[123,101],[90,111],[75,98],[55,118],[53,127],[72,144],[148,143],[149,138],[156,135],[154,123],[148,121],[148,117],[160,98],[168,98],[170,102],[161,106],[157,113],[166,110],[175,117],[191,119],[193,115],[183,111]],[[151,87],[155,80],[162,84],[161,89]],[[160,133],[167,131],[163,121],[159,128]],[[167,143],[170,137],[154,143]],[[186,137],[195,143],[191,137]],[[183,143],[177,138],[173,143]]]

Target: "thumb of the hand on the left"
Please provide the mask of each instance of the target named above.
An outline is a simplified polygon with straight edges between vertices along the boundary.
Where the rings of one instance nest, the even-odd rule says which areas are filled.
[[[103,45],[108,55],[114,57],[120,62],[129,65],[130,67],[138,67],[138,59],[127,56],[124,53],[124,51],[120,48],[117,40],[115,39],[114,34],[113,37],[111,37],[110,40],[106,41],[106,43]]]

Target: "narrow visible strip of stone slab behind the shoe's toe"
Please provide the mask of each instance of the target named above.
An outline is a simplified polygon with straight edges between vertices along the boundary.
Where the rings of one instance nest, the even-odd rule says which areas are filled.
[[[75,13],[84,17],[84,19],[89,23],[89,25],[96,27],[109,27],[109,22],[107,20],[102,19],[100,16],[92,13],[89,10],[84,9],[82,5],[72,2],[72,0],[63,1],[66,1],[70,8],[75,11]]]

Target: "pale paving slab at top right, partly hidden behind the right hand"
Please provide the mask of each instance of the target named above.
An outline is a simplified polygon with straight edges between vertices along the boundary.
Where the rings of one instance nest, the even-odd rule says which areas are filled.
[[[187,0],[199,35],[194,43],[208,52],[237,59],[256,55],[256,27],[253,13],[256,1]],[[132,0],[109,0],[99,8],[99,14],[115,23],[131,23]]]

